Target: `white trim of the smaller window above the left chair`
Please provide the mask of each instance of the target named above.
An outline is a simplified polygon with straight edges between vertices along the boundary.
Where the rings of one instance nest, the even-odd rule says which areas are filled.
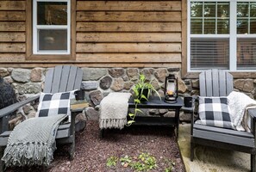
[[[67,3],[67,25],[37,25],[37,3],[38,2],[64,2]],[[53,54],[53,55],[67,55],[71,53],[71,0],[33,0],[33,54]],[[66,29],[67,32],[67,50],[66,51],[38,51],[38,34],[37,30],[40,28],[49,29]]]

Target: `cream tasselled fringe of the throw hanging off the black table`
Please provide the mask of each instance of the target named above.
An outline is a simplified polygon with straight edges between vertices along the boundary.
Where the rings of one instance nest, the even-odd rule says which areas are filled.
[[[100,128],[119,128],[122,129],[127,124],[127,119],[100,119]]]

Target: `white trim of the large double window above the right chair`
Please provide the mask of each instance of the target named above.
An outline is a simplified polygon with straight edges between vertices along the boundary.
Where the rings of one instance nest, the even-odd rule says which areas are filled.
[[[228,38],[229,37],[229,69],[227,71],[256,71],[250,70],[238,70],[236,64],[236,46],[237,38],[256,38],[256,34],[236,34],[236,3],[242,2],[242,0],[213,0],[211,2],[230,2],[229,6],[229,34],[190,34],[190,2],[207,2],[207,0],[188,0],[187,3],[187,71],[188,72],[200,72],[203,70],[191,70],[190,68],[190,38]],[[255,0],[247,0],[245,2],[255,2]],[[232,9],[232,10],[231,10]],[[191,36],[192,35],[192,36]]]

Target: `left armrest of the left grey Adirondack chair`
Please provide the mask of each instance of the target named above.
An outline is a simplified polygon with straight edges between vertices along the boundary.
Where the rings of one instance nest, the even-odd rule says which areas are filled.
[[[16,102],[15,104],[9,105],[9,107],[4,107],[0,110],[0,118],[3,118],[4,116],[15,112],[18,108],[28,104],[29,102],[35,101],[38,99],[40,95],[35,95],[33,97],[29,97],[25,101]]]

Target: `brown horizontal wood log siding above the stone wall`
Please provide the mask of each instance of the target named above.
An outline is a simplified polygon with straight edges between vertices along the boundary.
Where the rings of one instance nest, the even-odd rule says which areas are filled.
[[[26,14],[32,15],[32,11],[26,5],[31,1],[0,1],[0,66],[181,67],[186,51],[182,0],[77,0],[76,32],[72,34],[76,53],[70,60],[28,59],[26,50],[31,47],[26,47]]]

